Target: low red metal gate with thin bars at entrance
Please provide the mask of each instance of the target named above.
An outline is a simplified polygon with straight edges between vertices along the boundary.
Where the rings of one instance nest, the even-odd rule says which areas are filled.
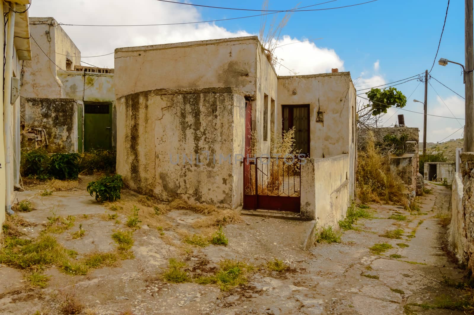
[[[244,158],[244,208],[300,212],[297,158]]]

